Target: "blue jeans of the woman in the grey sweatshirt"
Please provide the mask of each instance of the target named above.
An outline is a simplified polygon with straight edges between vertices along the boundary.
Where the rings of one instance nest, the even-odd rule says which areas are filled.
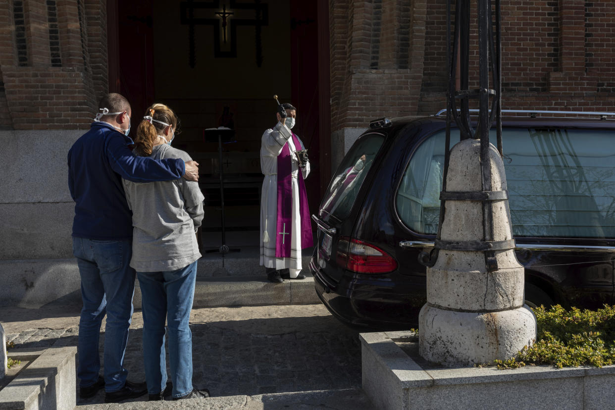
[[[167,272],[137,272],[143,309],[143,367],[148,393],[167,384],[164,321],[169,327],[169,356],[173,397],[192,392],[192,333],[188,326],[196,263]]]

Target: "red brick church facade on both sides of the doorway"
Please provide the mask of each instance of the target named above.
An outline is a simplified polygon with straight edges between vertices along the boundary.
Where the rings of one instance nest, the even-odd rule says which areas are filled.
[[[503,108],[615,111],[609,6],[502,2]],[[87,127],[108,90],[106,7],[7,0],[0,8],[0,129]],[[332,132],[444,108],[445,0],[330,0],[329,8]]]

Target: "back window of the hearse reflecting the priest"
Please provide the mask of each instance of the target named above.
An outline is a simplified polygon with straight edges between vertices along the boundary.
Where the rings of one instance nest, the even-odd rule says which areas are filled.
[[[348,216],[383,142],[384,136],[367,134],[352,145],[320,203],[320,216],[333,215],[340,220]]]

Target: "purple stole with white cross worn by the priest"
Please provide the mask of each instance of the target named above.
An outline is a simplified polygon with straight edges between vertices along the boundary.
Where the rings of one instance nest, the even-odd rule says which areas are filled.
[[[299,138],[292,135],[295,148],[301,148]],[[277,156],[277,223],[276,223],[276,258],[290,257],[290,234],[292,234],[293,192],[292,192],[292,159],[288,144],[284,144],[282,152]],[[301,218],[301,246],[309,248],[312,243],[312,225],[309,219],[308,195],[306,185],[301,175],[298,175],[299,185],[299,215]],[[301,255],[298,255],[301,258]]]

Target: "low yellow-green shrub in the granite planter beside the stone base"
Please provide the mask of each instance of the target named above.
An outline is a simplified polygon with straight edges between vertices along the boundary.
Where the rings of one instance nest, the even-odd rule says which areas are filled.
[[[534,310],[538,334],[536,342],[523,347],[510,360],[495,360],[498,369],[526,365],[554,365],[557,368],[581,365],[602,367],[615,359],[615,307],[598,310],[566,310],[556,305]]]

